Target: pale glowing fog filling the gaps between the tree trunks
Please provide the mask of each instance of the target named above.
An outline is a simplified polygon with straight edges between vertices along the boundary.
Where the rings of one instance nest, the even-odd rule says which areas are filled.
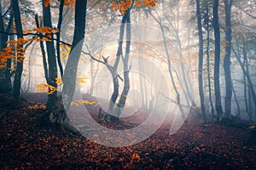
[[[177,5],[177,4],[176,4]],[[198,94],[198,80],[197,80],[197,37],[196,37],[196,23],[195,20],[190,20],[192,9],[189,8],[186,1],[181,1],[178,6],[174,5],[173,8],[166,8],[165,13],[170,16],[170,20],[164,18],[164,13],[161,11],[163,6],[159,5],[155,11],[158,11],[160,18],[163,20],[163,26],[165,30],[166,45],[170,61],[172,63],[172,74],[174,75],[174,82],[177,85],[177,91],[181,97],[181,105],[183,105],[183,111],[185,115],[189,113],[189,107],[191,106],[191,99],[196,104],[200,103]],[[36,5],[37,6],[37,5]],[[235,10],[235,9],[234,9]],[[236,9],[237,10],[237,9]],[[170,12],[172,11],[172,13]],[[53,11],[55,13],[55,10]],[[118,40],[119,40],[119,22],[121,17],[116,16],[114,22],[111,14],[106,14],[102,18],[96,18],[100,15],[96,9],[93,9],[87,17],[86,37],[84,40],[84,52],[90,53],[96,59],[103,60],[108,58],[108,63],[113,65],[116,58]],[[153,13],[156,16],[156,13]],[[69,17],[73,18],[73,12],[69,13]],[[68,17],[64,20],[67,20]],[[55,19],[54,24],[55,24]],[[241,20],[246,21],[248,26],[253,26],[252,20],[241,14]],[[223,19],[221,18],[221,22]],[[96,25],[98,23],[98,25]],[[102,24],[100,24],[102,23]],[[69,22],[67,26],[71,26],[67,29],[68,34],[63,34],[62,39],[70,42],[72,39],[73,22]],[[234,34],[239,34],[240,30],[234,26]],[[221,37],[224,41],[224,37]],[[123,47],[125,47],[125,42]],[[250,75],[252,76],[253,84],[255,82],[255,45],[250,44],[248,48],[248,63],[250,68]],[[213,47],[211,49],[211,55],[213,53]],[[62,64],[65,66],[67,62],[68,50],[63,48],[62,50]],[[25,59],[25,70],[22,77],[22,89],[24,93],[27,92],[40,92],[37,86],[38,84],[45,83],[44,69],[42,66],[42,56],[38,44],[32,43],[27,48]],[[125,48],[124,48],[125,51]],[[223,52],[222,52],[223,53]],[[157,22],[148,14],[134,11],[131,16],[131,53],[129,59],[129,66],[131,70],[129,72],[130,77],[130,90],[125,102],[125,108],[130,110],[124,111],[122,116],[129,116],[132,112],[139,109],[147,109],[149,111],[155,110],[159,116],[165,116],[166,113],[181,115],[180,109],[177,108],[177,94],[173,87],[173,82],[170,78],[170,72],[168,70],[168,59],[166,54],[165,43],[163,39],[162,31]],[[223,60],[224,54],[222,54]],[[206,61],[205,61],[206,62]],[[210,61],[213,62],[213,58]],[[240,112],[242,119],[250,120],[247,115],[247,107],[244,101],[244,83],[242,79],[241,67],[235,58],[235,54],[232,53],[231,58],[231,71],[234,85],[234,92],[236,98],[232,99],[232,115],[237,116]],[[183,70],[182,68],[185,68]],[[206,65],[206,64],[205,64]],[[224,70],[223,61],[220,67],[220,85],[222,102],[224,105]],[[252,68],[252,69],[251,69]],[[120,59],[118,67],[118,75],[123,77],[123,63]],[[211,68],[211,77],[213,77],[213,69]],[[88,54],[82,54],[79,61],[77,89],[80,94],[90,94],[98,99],[102,109],[108,110],[109,99],[113,93],[113,81],[111,73],[108,71],[106,65],[90,59]],[[207,92],[207,71],[204,69],[204,88],[205,88],[205,105],[208,115],[210,115],[211,106],[209,104],[208,92]],[[212,82],[213,83],[213,82]],[[247,85],[246,85],[247,86]],[[119,79],[119,95],[124,87],[124,82]],[[189,99],[188,89],[191,94]],[[61,85],[59,86],[61,92]],[[214,98],[213,98],[214,101]],[[250,101],[252,102],[252,101]],[[239,105],[239,110],[237,107]],[[223,106],[224,107],[224,106]],[[132,108],[132,109],[131,109]],[[255,110],[253,106],[251,111]],[[252,116],[255,121],[255,114]]]

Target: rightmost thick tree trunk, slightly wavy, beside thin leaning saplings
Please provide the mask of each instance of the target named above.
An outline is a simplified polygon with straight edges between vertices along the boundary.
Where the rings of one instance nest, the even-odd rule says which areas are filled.
[[[225,56],[224,56],[224,75],[225,75],[225,116],[226,118],[231,118],[231,99],[232,99],[232,79],[230,71],[230,55],[231,55],[231,41],[232,41],[232,30],[231,30],[231,7],[233,0],[225,0]]]

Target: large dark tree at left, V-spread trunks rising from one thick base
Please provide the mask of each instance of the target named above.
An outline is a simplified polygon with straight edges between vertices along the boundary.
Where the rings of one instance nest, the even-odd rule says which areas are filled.
[[[44,11],[44,26],[48,26],[49,28],[52,28],[51,26],[51,19],[50,19],[50,7],[49,3],[43,2],[43,11]],[[64,3],[64,1],[61,1],[61,3]],[[72,3],[72,2],[69,2]],[[61,4],[60,4],[61,5]],[[63,4],[62,4],[63,5]],[[62,6],[61,5],[61,6]],[[64,110],[64,105],[66,106],[65,109],[69,109],[69,105],[71,105],[73,94],[75,90],[75,84],[76,84],[76,75],[77,75],[77,69],[79,64],[79,57],[82,51],[82,46],[84,42],[84,34],[85,34],[85,18],[86,18],[86,7],[87,7],[87,1],[86,0],[77,0],[75,3],[75,28],[74,28],[74,34],[73,34],[73,43],[72,45],[68,44],[67,42],[63,42],[64,44],[68,44],[69,46],[72,46],[71,53],[69,54],[69,57],[67,59],[67,65],[65,67],[65,72],[63,75],[63,89],[62,89],[62,98],[57,98],[56,94],[56,82],[57,82],[57,60],[55,55],[55,48],[60,48],[60,37],[59,35],[56,38],[57,45],[55,47],[54,41],[50,41],[50,43],[46,42],[46,48],[47,48],[47,54],[48,54],[48,69],[45,69],[45,73],[49,74],[49,77],[47,77],[48,85],[49,85],[49,99],[47,101],[48,103],[48,110],[49,112],[46,114],[47,118],[49,118],[49,122],[52,122],[56,125],[63,126],[67,130],[70,130],[72,132],[76,133],[76,130],[73,128],[71,122],[69,122],[69,119],[67,118],[67,112]],[[61,15],[60,8],[60,15]],[[61,16],[60,16],[61,17]],[[61,28],[61,19],[59,19],[59,27]],[[38,22],[37,22],[38,23]],[[38,24],[37,24],[38,25]],[[57,30],[57,33],[61,30]],[[39,36],[43,36],[40,35]],[[46,37],[49,37],[49,34],[45,35]],[[53,35],[50,36],[52,40],[55,40],[52,38]],[[41,49],[44,49],[43,44],[41,43]],[[73,51],[75,51],[73,53]],[[44,54],[44,50],[42,50],[42,53]],[[52,56],[49,56],[50,54],[53,54],[54,58]],[[58,54],[58,53],[57,53]],[[54,62],[51,63],[50,62]],[[44,65],[45,65],[44,61]],[[59,62],[60,64],[60,62]],[[52,69],[51,67],[54,67]],[[48,71],[48,72],[47,72]],[[53,72],[52,72],[53,71]],[[50,89],[54,87],[54,89]],[[63,105],[64,104],[64,105]]]

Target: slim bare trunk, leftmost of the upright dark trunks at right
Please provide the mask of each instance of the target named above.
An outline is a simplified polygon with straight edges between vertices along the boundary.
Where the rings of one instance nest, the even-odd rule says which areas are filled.
[[[198,53],[198,87],[199,96],[201,102],[201,113],[204,117],[205,122],[207,122],[206,109],[205,109],[205,99],[204,99],[204,89],[202,80],[202,70],[203,70],[203,35],[201,27],[201,9],[200,0],[196,0],[196,16],[197,16],[197,28],[198,28],[198,38],[199,38],[199,53]]]

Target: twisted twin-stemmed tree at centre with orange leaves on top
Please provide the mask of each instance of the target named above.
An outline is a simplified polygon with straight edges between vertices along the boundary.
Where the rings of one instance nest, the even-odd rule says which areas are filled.
[[[104,116],[104,119],[107,122],[118,121],[119,116],[121,114],[122,108],[125,107],[125,101],[127,99],[127,95],[130,89],[130,78],[129,78],[129,71],[130,68],[128,66],[129,62],[129,55],[130,55],[130,47],[131,47],[131,8],[133,4],[136,4],[137,7],[144,5],[148,8],[154,8],[156,1],[121,1],[119,3],[112,3],[112,8],[114,11],[119,10],[119,12],[123,15],[121,26],[120,26],[120,33],[119,33],[119,45],[117,49],[116,59],[114,65],[108,65],[108,58],[104,58],[104,65],[107,66],[108,70],[110,71],[113,77],[113,94],[109,101],[108,106],[108,114]],[[125,47],[125,54],[123,54],[123,39],[124,39],[124,32],[126,26],[126,47]],[[119,65],[119,59],[123,61],[123,68],[124,68],[124,87],[123,91],[120,95],[119,102],[116,104],[116,100],[118,99],[119,95],[119,75],[117,74],[117,68]]]

